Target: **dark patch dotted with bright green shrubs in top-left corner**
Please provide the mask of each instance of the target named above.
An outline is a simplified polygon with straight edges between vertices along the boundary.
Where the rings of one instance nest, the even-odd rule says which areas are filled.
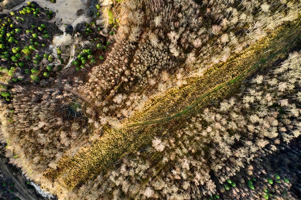
[[[48,12],[29,2],[0,18],[0,70],[5,81],[39,82],[59,70],[60,55],[48,47],[60,31],[48,22]]]

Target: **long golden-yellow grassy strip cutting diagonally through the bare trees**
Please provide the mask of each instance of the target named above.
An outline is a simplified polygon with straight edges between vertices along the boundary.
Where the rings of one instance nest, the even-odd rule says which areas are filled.
[[[101,171],[105,173],[104,170],[125,153],[137,150],[149,143],[154,135],[179,124],[189,112],[229,95],[255,69],[285,57],[299,39],[300,21],[301,17],[282,25],[238,56],[210,68],[204,76],[191,78],[187,85],[154,99],[142,111],[123,121],[125,128],[105,126],[100,139],[74,156],[61,159],[58,168],[47,171],[46,177],[72,190]]]

